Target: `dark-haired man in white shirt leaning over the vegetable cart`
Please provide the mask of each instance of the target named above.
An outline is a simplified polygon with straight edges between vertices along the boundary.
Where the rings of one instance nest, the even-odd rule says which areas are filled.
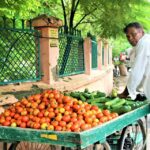
[[[135,60],[124,92],[119,97],[130,96],[136,99],[138,87],[142,86],[147,99],[150,99],[150,35],[145,34],[143,27],[130,23],[124,28],[129,43],[135,48]]]

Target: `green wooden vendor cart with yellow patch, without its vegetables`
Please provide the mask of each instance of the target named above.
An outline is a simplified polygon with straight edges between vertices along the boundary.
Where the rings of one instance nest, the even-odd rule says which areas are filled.
[[[150,105],[145,104],[144,106],[123,114],[109,122],[78,133],[1,126],[0,140],[1,142],[4,142],[3,150],[7,149],[7,143],[11,143],[9,150],[17,150],[17,146],[22,141],[60,145],[62,146],[62,149],[76,148],[77,150],[85,149],[94,143],[101,143],[106,150],[109,150],[111,147],[107,142],[107,137],[116,133],[116,131],[122,130],[119,150],[123,150],[124,142],[126,142],[125,135],[127,135],[127,127],[131,124],[135,124],[136,126],[136,123],[138,123],[142,133],[143,145],[145,144],[147,131],[141,118],[146,117],[149,113]],[[93,149],[96,149],[96,146],[94,146]]]

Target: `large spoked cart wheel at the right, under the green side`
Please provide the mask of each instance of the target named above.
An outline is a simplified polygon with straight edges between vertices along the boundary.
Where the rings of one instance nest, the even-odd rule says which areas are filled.
[[[141,150],[145,147],[146,131],[142,120],[122,130],[119,150]]]

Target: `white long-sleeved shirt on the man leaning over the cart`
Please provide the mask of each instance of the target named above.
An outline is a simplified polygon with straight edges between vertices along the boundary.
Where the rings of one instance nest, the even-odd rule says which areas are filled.
[[[150,99],[150,35],[145,34],[135,46],[135,61],[127,83],[129,96],[136,98],[137,88],[142,83],[143,92]]]

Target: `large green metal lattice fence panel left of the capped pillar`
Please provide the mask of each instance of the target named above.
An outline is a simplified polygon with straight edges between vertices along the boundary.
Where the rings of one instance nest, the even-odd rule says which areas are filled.
[[[25,21],[0,20],[0,85],[41,79],[39,33]]]

